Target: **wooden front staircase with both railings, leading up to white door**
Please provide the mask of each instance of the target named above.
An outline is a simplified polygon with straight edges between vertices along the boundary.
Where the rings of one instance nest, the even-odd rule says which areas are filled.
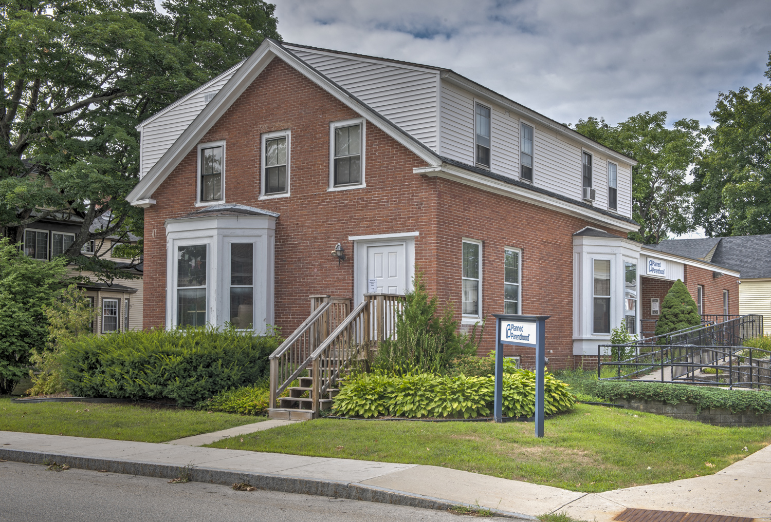
[[[278,375],[281,366],[274,361],[288,352],[290,341],[292,346],[298,343],[297,339],[301,337],[295,334],[299,332],[301,336],[302,332],[308,331],[309,325],[318,322],[319,316],[311,313],[308,320],[274,352],[278,356],[271,355],[271,405],[275,404],[276,398],[281,404],[270,410],[270,417],[312,419],[318,417],[319,411],[331,407],[339,391],[336,387],[338,380],[345,377],[354,363],[369,360],[368,350],[376,349],[380,342],[393,336],[396,316],[402,310],[404,301],[404,296],[395,294],[365,294],[364,301],[338,323],[332,333],[295,366],[295,370],[282,374],[288,376],[281,386],[274,386],[278,383],[274,373]],[[283,352],[281,348],[284,348]],[[303,370],[307,370],[307,376],[300,376]],[[295,379],[298,379],[299,386],[289,386]],[[289,397],[278,397],[286,389],[290,392]]]

